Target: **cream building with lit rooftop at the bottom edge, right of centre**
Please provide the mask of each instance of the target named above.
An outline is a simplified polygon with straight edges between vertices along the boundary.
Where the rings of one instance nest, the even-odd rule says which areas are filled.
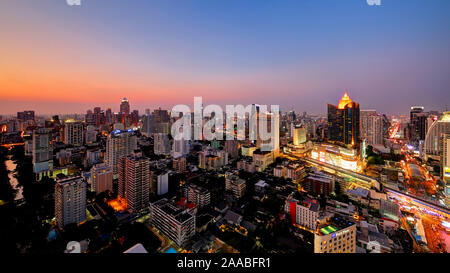
[[[314,253],[356,253],[356,225],[337,216],[321,221],[314,233]]]

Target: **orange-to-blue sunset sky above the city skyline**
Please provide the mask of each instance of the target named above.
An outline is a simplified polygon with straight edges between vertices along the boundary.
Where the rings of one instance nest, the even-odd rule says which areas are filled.
[[[0,114],[450,107],[450,1],[0,0]]]

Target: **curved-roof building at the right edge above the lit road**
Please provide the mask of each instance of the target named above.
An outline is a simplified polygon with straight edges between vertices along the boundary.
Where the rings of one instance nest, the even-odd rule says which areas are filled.
[[[444,112],[443,115],[430,126],[425,137],[425,160],[428,160],[429,158],[438,161],[441,160],[443,134],[450,134],[450,112]]]

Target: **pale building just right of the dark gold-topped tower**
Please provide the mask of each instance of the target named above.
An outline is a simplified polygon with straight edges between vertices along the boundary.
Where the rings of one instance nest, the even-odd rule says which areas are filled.
[[[370,145],[383,144],[383,117],[375,110],[361,110],[361,139]]]

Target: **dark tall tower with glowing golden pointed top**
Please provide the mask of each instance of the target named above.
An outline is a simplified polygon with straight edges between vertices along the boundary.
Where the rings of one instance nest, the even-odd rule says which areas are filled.
[[[337,106],[328,104],[328,141],[359,145],[359,103],[345,92]]]

